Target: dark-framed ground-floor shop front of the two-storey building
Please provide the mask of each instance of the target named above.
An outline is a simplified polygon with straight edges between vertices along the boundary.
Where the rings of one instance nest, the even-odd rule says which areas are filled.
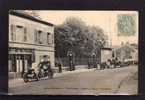
[[[34,50],[10,48],[9,50],[9,78],[22,77],[23,73],[32,67]]]

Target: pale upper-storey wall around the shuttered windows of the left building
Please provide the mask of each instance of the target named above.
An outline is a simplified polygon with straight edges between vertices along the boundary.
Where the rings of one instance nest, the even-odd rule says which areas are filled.
[[[20,18],[14,15],[9,15],[9,41],[11,41],[11,30],[10,30],[10,25],[14,24],[14,25],[20,25],[23,27],[27,28],[27,35],[28,35],[28,41],[26,43],[35,43],[34,40],[34,30],[42,30],[43,31],[43,41],[46,43],[47,41],[47,32],[51,33],[51,35],[54,34],[54,27],[53,26],[48,26],[48,25],[44,25],[38,22],[34,22],[31,21],[29,19],[24,19],[24,18]],[[18,35],[19,37],[17,37],[19,40],[22,40],[21,38],[23,38],[23,35]],[[53,39],[54,37],[52,37]],[[16,42],[23,42],[23,41],[16,41]],[[52,44],[53,46],[54,44]]]

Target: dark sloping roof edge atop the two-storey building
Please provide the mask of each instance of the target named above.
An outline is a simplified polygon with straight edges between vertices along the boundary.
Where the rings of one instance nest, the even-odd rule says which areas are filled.
[[[18,16],[18,17],[22,17],[22,18],[25,18],[25,19],[29,19],[29,20],[32,20],[32,21],[35,21],[35,22],[38,22],[38,23],[41,23],[41,24],[48,25],[48,26],[54,26],[52,23],[42,21],[42,20],[37,19],[37,18],[35,18],[33,16],[30,16],[28,14],[20,13],[20,12],[14,11],[14,10],[9,11],[9,14],[15,15],[15,16]]]

